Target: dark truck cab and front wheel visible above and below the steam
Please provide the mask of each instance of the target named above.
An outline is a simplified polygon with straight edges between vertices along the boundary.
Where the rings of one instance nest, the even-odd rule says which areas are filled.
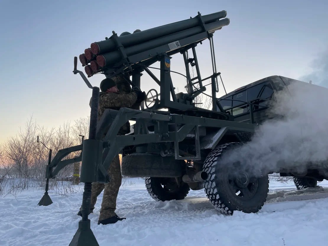
[[[294,90],[300,88],[309,92],[325,91],[328,95],[327,88],[314,85],[312,81],[306,83],[300,80],[274,75],[229,92],[220,97],[218,101],[226,113],[234,116],[235,121],[262,124],[267,120],[280,117],[280,115],[275,115],[270,111],[270,108],[274,107],[277,103],[277,93],[285,91],[293,98],[295,95]],[[304,99],[307,100],[308,98]],[[247,102],[253,103],[253,105]],[[250,117],[250,110],[253,111],[252,117]],[[318,181],[328,179],[328,168],[325,163],[320,163],[319,165],[318,163],[317,165],[308,163],[307,170],[302,170],[302,172],[297,171],[297,167],[293,168],[293,166],[287,169],[281,168],[277,171],[280,176],[291,176],[298,190],[316,187]]]

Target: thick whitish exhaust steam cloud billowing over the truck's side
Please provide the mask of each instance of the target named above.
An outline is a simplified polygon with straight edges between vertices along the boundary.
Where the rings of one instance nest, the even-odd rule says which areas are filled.
[[[328,89],[296,82],[279,92],[276,100],[269,111],[281,117],[260,125],[252,140],[227,152],[222,163],[240,161],[253,171],[272,172],[282,167],[302,172],[309,162],[324,165],[328,160]]]

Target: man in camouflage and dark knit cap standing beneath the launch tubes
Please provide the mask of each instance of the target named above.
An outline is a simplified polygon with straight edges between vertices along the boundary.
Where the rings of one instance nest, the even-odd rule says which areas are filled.
[[[116,82],[115,82],[116,81]],[[119,91],[117,84],[120,84],[122,91]],[[100,83],[100,98],[99,98],[99,111],[98,111],[98,121],[100,120],[105,109],[115,109],[119,108],[132,108],[136,105],[140,106],[140,103],[145,100],[146,93],[140,90],[129,89],[129,84],[126,84],[122,75],[113,77],[113,79],[106,78]],[[124,90],[123,90],[124,89]],[[134,88],[133,88],[134,89]],[[91,104],[91,100],[90,100]],[[119,135],[123,135],[130,132],[130,124],[127,122],[122,126],[118,132]],[[97,201],[97,196],[104,190],[103,200],[101,203],[100,215],[98,219],[99,224],[113,224],[118,220],[123,220],[125,218],[116,215],[116,198],[122,182],[121,167],[118,155],[114,157],[109,170],[110,182],[107,184],[103,183],[92,183],[91,190],[91,205],[90,213],[93,212],[94,205]],[[78,215],[82,216],[81,208]]]

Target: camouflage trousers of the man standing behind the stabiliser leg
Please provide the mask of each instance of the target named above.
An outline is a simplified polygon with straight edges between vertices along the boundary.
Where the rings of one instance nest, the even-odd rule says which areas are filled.
[[[107,219],[116,215],[116,198],[122,183],[121,166],[118,155],[114,157],[108,169],[108,173],[110,176],[109,183],[92,183],[91,210],[94,209],[94,205],[97,202],[97,196],[104,191],[99,220]]]

